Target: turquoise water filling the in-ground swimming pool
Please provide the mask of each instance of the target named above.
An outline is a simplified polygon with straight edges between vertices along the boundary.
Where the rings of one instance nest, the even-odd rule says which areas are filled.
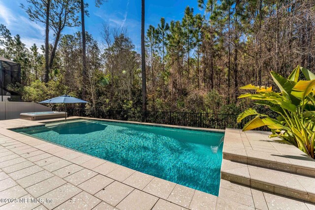
[[[118,123],[68,121],[15,129],[128,168],[219,194],[224,133]]]

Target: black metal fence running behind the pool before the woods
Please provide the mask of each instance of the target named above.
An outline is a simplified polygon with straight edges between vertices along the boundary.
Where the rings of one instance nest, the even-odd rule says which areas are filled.
[[[100,110],[96,113],[91,109],[67,109],[68,116],[93,117],[99,119],[150,122],[158,124],[181,125],[202,128],[238,128],[244,122],[237,123],[237,115],[191,113],[191,112],[158,112],[134,110]]]

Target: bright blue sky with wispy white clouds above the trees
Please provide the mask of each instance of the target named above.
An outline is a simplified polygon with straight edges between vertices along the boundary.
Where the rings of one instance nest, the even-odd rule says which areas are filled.
[[[141,0],[107,0],[99,8],[95,7],[95,0],[85,0],[89,4],[89,17],[85,17],[86,30],[101,42],[100,30],[103,23],[110,27],[126,27],[128,36],[140,51],[141,32]],[[20,34],[26,47],[33,43],[37,46],[44,44],[45,27],[41,23],[29,20],[26,12],[20,7],[27,0],[0,0],[0,23],[5,25],[12,36]],[[202,13],[198,9],[197,0],[146,0],[145,27],[158,26],[161,17],[167,22],[181,20],[186,6],[194,8],[195,13]],[[73,34],[81,27],[66,28],[63,34]],[[50,35],[50,37],[52,37]],[[52,42],[53,40],[51,40]]]

